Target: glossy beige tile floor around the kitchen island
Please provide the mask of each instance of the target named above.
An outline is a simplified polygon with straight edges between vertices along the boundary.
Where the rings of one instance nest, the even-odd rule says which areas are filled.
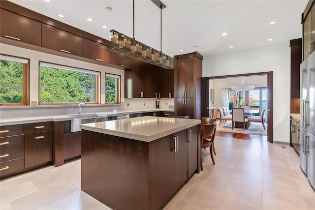
[[[164,210],[315,210],[315,192],[289,146],[216,137],[203,167]],[[108,210],[80,190],[81,161],[0,181],[1,210]]]

